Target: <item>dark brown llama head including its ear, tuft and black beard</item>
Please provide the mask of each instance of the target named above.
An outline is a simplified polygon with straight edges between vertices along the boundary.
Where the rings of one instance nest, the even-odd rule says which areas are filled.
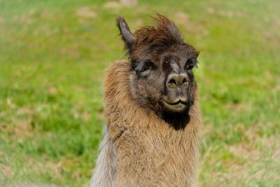
[[[174,22],[164,15],[155,20],[155,27],[142,27],[134,34],[124,18],[117,20],[131,62],[132,97],[179,130],[188,124],[195,99],[193,68],[199,53],[183,41]]]

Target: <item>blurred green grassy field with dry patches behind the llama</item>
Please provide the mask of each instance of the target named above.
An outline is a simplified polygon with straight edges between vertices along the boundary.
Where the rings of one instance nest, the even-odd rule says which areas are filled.
[[[0,186],[88,186],[104,69],[155,11],[201,51],[200,186],[280,186],[280,1],[0,0]]]

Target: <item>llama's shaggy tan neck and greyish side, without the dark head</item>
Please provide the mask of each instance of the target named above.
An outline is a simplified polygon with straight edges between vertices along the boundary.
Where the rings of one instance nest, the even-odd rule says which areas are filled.
[[[201,123],[197,94],[190,122],[183,130],[175,130],[135,102],[130,74],[125,61],[115,62],[106,71],[109,132],[90,186],[196,186]]]

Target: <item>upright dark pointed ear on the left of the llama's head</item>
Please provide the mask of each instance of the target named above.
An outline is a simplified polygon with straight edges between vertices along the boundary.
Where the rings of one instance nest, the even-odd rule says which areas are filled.
[[[132,32],[130,32],[130,27],[128,27],[125,18],[118,17],[117,25],[118,25],[118,29],[120,29],[120,35],[122,36],[123,41],[125,42],[125,48],[127,49],[127,52],[130,54],[132,52],[132,46],[135,42],[135,37],[132,34]]]

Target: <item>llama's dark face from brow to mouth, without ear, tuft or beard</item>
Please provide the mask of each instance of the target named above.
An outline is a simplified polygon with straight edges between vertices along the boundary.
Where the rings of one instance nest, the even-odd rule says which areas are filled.
[[[132,60],[132,90],[146,100],[140,103],[151,102],[153,110],[160,105],[160,110],[188,111],[196,90],[193,76],[193,68],[197,65],[195,49],[183,43],[169,46],[156,55],[151,53],[154,51]]]

